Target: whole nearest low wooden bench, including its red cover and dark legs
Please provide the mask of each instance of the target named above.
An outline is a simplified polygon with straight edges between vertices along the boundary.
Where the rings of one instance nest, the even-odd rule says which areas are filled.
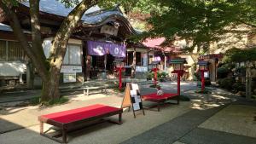
[[[67,143],[67,131],[74,128],[83,127],[84,124],[107,118],[113,115],[119,115],[119,121],[113,122],[115,124],[121,124],[122,121],[122,108],[109,107],[104,105],[92,105],[89,107],[81,107],[63,112],[55,112],[38,117],[40,122],[40,135],[44,135],[54,141],[61,143]],[[44,123],[54,125],[61,130],[62,141],[54,136],[47,135],[47,131],[44,132]]]

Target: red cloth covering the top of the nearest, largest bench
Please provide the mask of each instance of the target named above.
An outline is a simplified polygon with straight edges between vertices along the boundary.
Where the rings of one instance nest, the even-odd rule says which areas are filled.
[[[89,107],[81,107],[63,112],[50,113],[42,115],[41,117],[49,118],[62,124],[67,124],[84,118],[99,116],[108,112],[117,112],[119,110],[120,108],[96,104]]]

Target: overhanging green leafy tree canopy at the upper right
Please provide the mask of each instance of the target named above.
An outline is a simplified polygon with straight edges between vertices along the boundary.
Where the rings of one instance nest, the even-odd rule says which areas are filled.
[[[154,1],[154,0],[153,0]],[[155,2],[155,1],[154,1]],[[160,0],[162,8],[168,8],[160,14],[154,14],[149,20],[153,26],[142,37],[166,37],[172,41],[175,37],[188,39],[191,46],[208,48],[209,42],[218,41],[230,29],[227,27],[246,24],[256,27],[256,1],[254,0]]]

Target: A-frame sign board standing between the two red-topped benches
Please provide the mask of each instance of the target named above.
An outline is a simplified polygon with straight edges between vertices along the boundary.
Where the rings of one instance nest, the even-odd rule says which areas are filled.
[[[140,95],[140,91],[138,89],[137,84],[127,83],[125,87],[125,96],[122,102],[121,108],[129,107],[132,109],[133,116],[136,118],[136,111],[143,111],[143,115],[145,115],[143,109],[143,101]]]

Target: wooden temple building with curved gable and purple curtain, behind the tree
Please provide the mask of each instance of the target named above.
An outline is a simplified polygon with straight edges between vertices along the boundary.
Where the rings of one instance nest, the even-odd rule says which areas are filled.
[[[52,39],[62,20],[73,8],[66,8],[59,1],[41,0],[39,9],[44,55],[49,57]],[[21,27],[31,41],[29,3],[19,3],[15,11]],[[118,6],[108,10],[98,6],[88,9],[68,41],[61,66],[60,83],[115,78],[114,60],[121,60],[125,66],[132,66],[134,72],[148,72],[149,59],[153,59],[156,50],[148,49],[143,44],[129,43],[128,37],[137,33]],[[141,47],[136,48],[138,45]],[[0,9],[1,84],[28,81],[33,72],[30,64]]]

